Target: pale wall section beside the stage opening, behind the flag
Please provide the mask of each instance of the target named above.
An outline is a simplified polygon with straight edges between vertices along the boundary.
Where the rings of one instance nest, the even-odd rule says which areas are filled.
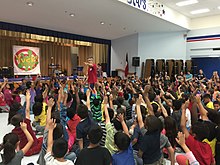
[[[132,57],[138,56],[138,34],[112,40],[111,70],[125,69],[126,53],[128,53],[129,72],[133,72]]]

